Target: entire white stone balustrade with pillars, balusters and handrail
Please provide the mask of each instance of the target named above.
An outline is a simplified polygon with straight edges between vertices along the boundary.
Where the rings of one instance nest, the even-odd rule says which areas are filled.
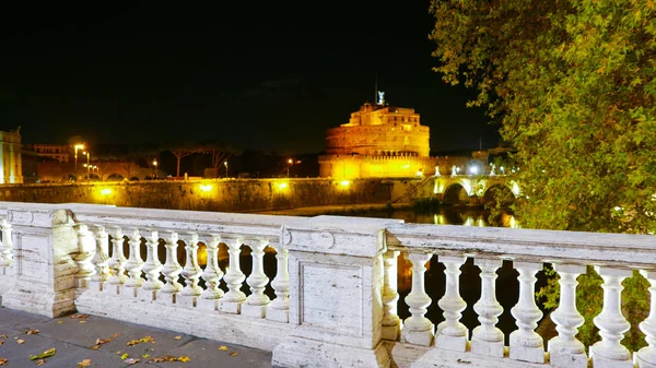
[[[640,325],[647,347],[629,352],[620,343],[629,329],[622,280],[641,270],[656,285],[652,236],[12,202],[0,202],[0,218],[8,308],[48,317],[77,310],[263,348],[280,367],[656,367],[654,312]],[[399,254],[411,268],[402,300]],[[427,288],[432,259],[444,265],[444,281]],[[468,259],[481,288],[469,306],[459,284]],[[504,261],[519,274],[512,333],[497,325]],[[544,263],[561,286],[550,316],[558,336],[548,341],[535,331]],[[587,265],[605,293],[595,318],[601,341],[590,347],[576,340],[583,318],[574,298]],[[444,321],[436,323],[426,310],[441,287]],[[478,314],[471,331],[461,321],[467,308]]]

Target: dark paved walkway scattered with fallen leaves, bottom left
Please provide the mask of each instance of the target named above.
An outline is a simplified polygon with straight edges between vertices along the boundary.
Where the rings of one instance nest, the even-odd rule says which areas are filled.
[[[0,342],[1,368],[271,367],[269,352],[84,314],[48,319],[0,308]],[[52,348],[43,363],[30,359]]]

